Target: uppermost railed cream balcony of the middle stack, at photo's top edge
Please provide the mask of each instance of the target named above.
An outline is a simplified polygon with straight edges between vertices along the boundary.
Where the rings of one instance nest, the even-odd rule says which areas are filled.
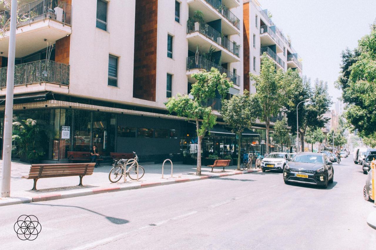
[[[225,2],[236,1],[227,0],[187,0],[189,4],[189,16],[193,17],[194,12],[200,10],[203,12],[206,22],[221,20],[222,32],[228,35],[240,34],[240,19],[237,18]]]

